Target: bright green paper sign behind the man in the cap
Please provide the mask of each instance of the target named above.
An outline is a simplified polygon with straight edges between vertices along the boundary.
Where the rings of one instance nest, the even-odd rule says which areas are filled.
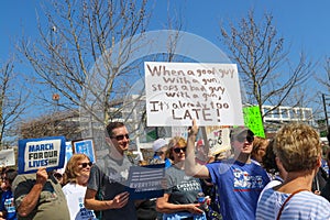
[[[263,120],[258,107],[244,107],[243,113],[245,127],[248,127],[255,136],[265,138]]]

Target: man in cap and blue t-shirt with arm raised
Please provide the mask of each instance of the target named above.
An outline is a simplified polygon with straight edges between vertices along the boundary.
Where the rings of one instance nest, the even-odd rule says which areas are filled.
[[[231,130],[231,150],[233,158],[199,165],[195,163],[195,141],[198,133],[196,120],[188,131],[186,174],[204,179],[211,179],[218,188],[220,213],[226,219],[255,219],[260,193],[270,182],[266,172],[251,163],[254,134],[248,128]]]

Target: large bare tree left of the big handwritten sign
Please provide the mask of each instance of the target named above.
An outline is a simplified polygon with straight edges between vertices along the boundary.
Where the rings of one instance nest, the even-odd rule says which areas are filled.
[[[54,105],[50,97],[57,94],[58,110],[85,114],[85,135],[94,136],[90,128],[103,131],[117,119],[140,78],[139,64],[130,63],[129,55],[142,46],[134,41],[147,24],[146,1],[62,0],[44,7],[44,13],[38,38],[23,37],[20,52],[35,70],[35,80],[46,85],[38,98]]]

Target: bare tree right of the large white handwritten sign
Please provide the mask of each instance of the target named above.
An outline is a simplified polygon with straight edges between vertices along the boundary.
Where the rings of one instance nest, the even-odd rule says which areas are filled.
[[[263,118],[279,106],[299,106],[300,99],[290,96],[310,76],[315,65],[304,53],[295,66],[288,61],[289,53],[273,25],[272,14],[264,14],[258,24],[251,10],[237,25],[230,23],[229,31],[224,26],[220,31],[229,57],[238,64],[248,103],[257,105],[261,112],[263,105],[274,106],[263,112]]]

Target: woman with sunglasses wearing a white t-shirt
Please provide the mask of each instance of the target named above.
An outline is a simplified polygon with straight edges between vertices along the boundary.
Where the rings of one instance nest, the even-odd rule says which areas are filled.
[[[96,219],[92,210],[84,206],[87,182],[92,163],[85,154],[74,154],[68,161],[63,182],[63,193],[65,194],[72,220]]]

